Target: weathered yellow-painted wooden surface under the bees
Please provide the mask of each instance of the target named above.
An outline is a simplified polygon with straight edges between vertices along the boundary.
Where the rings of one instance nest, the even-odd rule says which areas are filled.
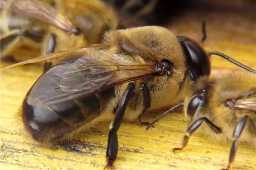
[[[201,38],[201,20],[207,20],[209,51],[221,51],[256,68],[255,16],[218,11],[189,12],[167,27],[176,35]],[[7,63],[1,63],[1,66]],[[212,56],[214,68],[239,69],[219,57]],[[0,169],[103,169],[109,122],[100,124],[79,140],[43,146],[29,139],[16,121],[21,102],[41,74],[41,65],[24,65],[1,71],[0,108]],[[223,70],[222,70],[223,71]],[[224,70],[228,71],[228,70]],[[215,73],[213,71],[213,73]],[[148,121],[157,117],[152,113]],[[186,124],[182,113],[172,113],[148,131],[145,126],[123,122],[119,131],[119,153],[116,169],[221,169],[226,167],[230,144],[206,139],[198,132],[189,145],[175,155],[173,147],[180,147]],[[231,132],[232,133],[232,132]],[[256,169],[256,150],[239,144],[232,169]]]

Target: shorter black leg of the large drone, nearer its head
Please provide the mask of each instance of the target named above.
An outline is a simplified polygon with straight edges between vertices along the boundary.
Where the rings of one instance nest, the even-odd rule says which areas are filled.
[[[150,91],[149,91],[148,85],[145,82],[141,83],[141,87],[143,90],[143,99],[144,99],[145,108],[140,114],[139,121],[140,121],[140,125],[149,125],[150,122],[142,122],[142,117],[143,117],[143,113],[145,113],[145,111],[148,110],[148,108],[150,108],[150,105],[151,105]]]

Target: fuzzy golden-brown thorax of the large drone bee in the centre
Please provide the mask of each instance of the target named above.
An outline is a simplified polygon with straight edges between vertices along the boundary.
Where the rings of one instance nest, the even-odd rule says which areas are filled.
[[[109,50],[113,53],[130,57],[140,64],[155,65],[162,59],[173,64],[171,77],[155,76],[134,82],[136,88],[129,105],[132,110],[143,110],[142,82],[146,82],[150,90],[150,109],[169,107],[183,101],[191,81],[186,77],[186,61],[180,43],[172,32],[158,26],[116,30],[105,34],[105,44],[111,46]],[[125,88],[125,84],[116,87],[117,98],[121,99]]]

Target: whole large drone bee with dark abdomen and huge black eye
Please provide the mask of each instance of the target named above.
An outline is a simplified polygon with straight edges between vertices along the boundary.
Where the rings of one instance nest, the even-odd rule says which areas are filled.
[[[191,83],[210,74],[209,54],[198,42],[159,26],[110,31],[103,44],[15,65],[58,57],[64,59],[26,94],[20,111],[23,124],[36,141],[52,142],[113,120],[106,167],[116,159],[122,119],[147,124],[142,122],[145,111],[183,102]]]

